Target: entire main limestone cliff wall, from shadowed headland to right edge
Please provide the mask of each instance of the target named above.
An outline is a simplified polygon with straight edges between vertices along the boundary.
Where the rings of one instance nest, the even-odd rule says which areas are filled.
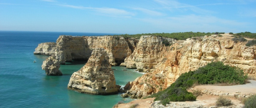
[[[110,64],[119,65],[124,62],[121,66],[147,72],[125,86],[127,94],[133,98],[141,98],[164,90],[182,73],[196,70],[212,61],[236,66],[249,77],[256,78],[256,46],[247,47],[246,42],[234,42],[232,38],[212,35],[176,41],[157,36],[142,36],[138,41],[118,36],[60,36],[56,41],[55,59],[61,64],[72,60],[87,60],[95,49],[103,48]],[[170,46],[163,44],[166,41]],[[72,75],[72,78],[73,76],[75,78],[79,75]],[[83,77],[79,76],[77,79],[82,80]]]

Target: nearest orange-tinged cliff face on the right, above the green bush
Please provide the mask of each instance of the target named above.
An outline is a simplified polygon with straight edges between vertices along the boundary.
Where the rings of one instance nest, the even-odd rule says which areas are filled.
[[[159,56],[162,56],[162,59],[155,65],[155,71],[129,82],[127,93],[133,98],[141,98],[164,90],[182,73],[196,70],[212,61],[222,61],[225,65],[237,66],[248,76],[256,77],[255,46],[247,47],[245,42],[236,43],[231,41],[232,38],[205,36],[176,41],[169,47],[161,47],[162,55]],[[138,52],[138,54],[143,53]],[[134,58],[140,56],[135,55]]]

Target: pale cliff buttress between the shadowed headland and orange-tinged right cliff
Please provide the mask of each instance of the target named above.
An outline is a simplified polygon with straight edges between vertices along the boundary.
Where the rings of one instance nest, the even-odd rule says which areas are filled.
[[[157,36],[142,36],[132,55],[125,58],[127,68],[136,68],[139,71],[149,72],[162,61],[164,55],[163,41],[173,42],[173,39]]]

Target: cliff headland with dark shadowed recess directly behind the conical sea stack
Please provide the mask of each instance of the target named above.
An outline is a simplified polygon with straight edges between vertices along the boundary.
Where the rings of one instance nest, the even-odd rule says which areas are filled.
[[[56,57],[61,64],[72,60],[88,60],[95,48],[105,49],[113,66],[124,62],[124,59],[132,54],[127,41],[118,36],[60,36],[56,43]]]

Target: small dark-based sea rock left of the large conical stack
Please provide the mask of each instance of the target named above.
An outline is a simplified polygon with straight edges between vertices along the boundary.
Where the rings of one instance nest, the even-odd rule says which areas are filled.
[[[42,70],[45,70],[46,75],[62,75],[60,68],[60,62],[56,60],[54,55],[46,58],[42,64]]]

